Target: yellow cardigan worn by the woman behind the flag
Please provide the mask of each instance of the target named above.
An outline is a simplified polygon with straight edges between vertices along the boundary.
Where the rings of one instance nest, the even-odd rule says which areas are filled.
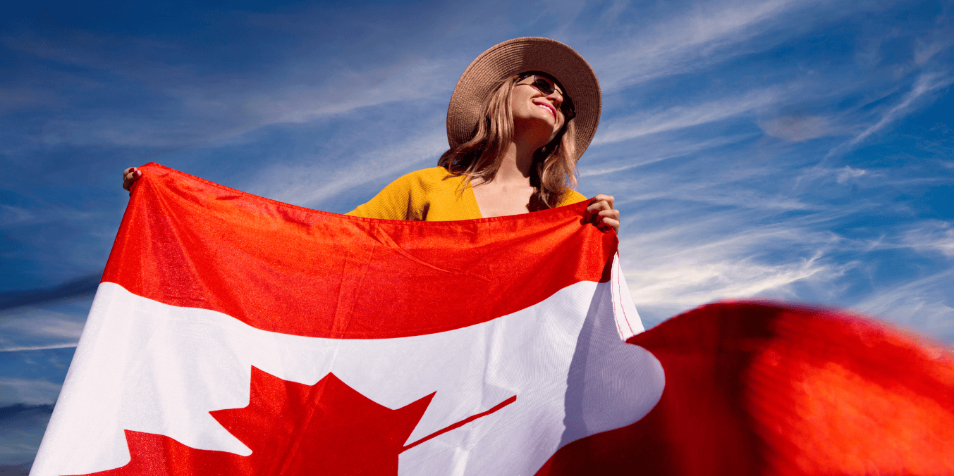
[[[391,182],[366,204],[346,214],[388,220],[447,222],[483,218],[473,188],[459,188],[464,176],[453,176],[443,167],[418,170]],[[587,197],[570,190],[560,206],[575,204]]]

